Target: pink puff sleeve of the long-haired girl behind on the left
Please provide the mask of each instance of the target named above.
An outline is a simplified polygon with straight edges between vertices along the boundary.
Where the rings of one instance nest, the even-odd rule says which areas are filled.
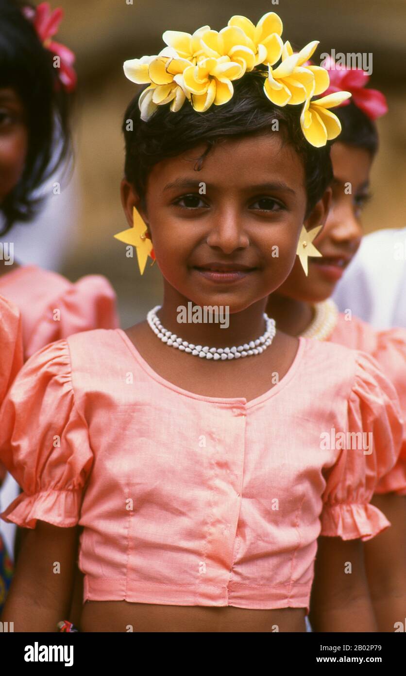
[[[26,356],[73,333],[117,329],[119,325],[113,287],[102,275],[88,274],[49,304],[26,345]]]

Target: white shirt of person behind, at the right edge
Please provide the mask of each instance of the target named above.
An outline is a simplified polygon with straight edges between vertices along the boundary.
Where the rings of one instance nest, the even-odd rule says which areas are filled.
[[[406,228],[366,235],[333,299],[376,329],[406,327]]]

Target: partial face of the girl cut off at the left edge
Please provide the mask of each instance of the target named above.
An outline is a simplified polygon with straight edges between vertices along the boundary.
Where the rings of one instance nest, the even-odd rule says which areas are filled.
[[[0,204],[22,176],[27,146],[22,100],[14,89],[0,89]]]

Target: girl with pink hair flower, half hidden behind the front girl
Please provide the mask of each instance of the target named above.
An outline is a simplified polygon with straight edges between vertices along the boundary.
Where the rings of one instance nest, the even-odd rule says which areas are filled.
[[[346,87],[353,98],[347,107],[336,110],[342,132],[331,151],[332,209],[313,241],[322,258],[309,259],[308,276],[295,263],[286,282],[270,297],[268,311],[289,335],[314,337],[372,354],[395,385],[405,411],[405,329],[375,331],[352,316],[351,308],[338,314],[329,299],[361,243],[361,208],[369,197],[370,169],[378,149],[374,120],[386,112],[383,95],[364,89],[367,79],[362,70],[347,71],[338,66],[330,70],[331,91]],[[349,185],[351,192],[345,189]],[[394,631],[406,606],[406,441],[397,464],[381,479],[374,493],[372,504],[388,516],[392,528],[365,544],[366,571],[378,627]],[[323,546],[321,543],[319,554]],[[321,555],[320,561],[322,565]],[[324,598],[328,599],[328,593]],[[312,623],[317,627],[318,619],[313,613]]]

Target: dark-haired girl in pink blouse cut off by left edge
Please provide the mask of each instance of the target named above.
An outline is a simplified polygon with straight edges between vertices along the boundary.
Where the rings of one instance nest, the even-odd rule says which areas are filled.
[[[72,284],[56,272],[19,264],[8,234],[15,222],[32,220],[41,206],[39,189],[70,155],[76,74],[74,54],[53,40],[61,18],[61,9],[51,12],[49,3],[34,9],[0,0],[0,293],[21,312],[24,358],[78,331],[118,327],[116,295],[103,276]],[[8,479],[2,508],[19,490]]]

